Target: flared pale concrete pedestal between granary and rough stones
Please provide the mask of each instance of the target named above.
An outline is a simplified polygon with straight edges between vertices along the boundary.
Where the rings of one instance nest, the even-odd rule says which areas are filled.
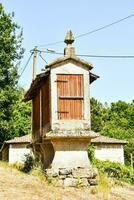
[[[51,140],[54,148],[52,169],[89,167],[87,154],[90,139],[61,138]]]

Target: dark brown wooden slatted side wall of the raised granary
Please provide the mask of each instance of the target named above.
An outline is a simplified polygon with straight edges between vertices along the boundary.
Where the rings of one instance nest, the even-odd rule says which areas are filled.
[[[32,132],[34,139],[39,139],[45,126],[50,122],[49,77],[42,82],[32,100]]]

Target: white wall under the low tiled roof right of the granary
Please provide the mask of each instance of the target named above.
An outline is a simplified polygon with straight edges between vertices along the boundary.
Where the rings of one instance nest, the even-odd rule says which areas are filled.
[[[124,164],[124,149],[121,144],[96,144],[95,158]]]

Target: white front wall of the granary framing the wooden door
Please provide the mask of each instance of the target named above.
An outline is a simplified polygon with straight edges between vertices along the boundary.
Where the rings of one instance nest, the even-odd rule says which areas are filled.
[[[84,120],[58,120],[57,115],[57,74],[83,74],[84,76]],[[51,69],[51,127],[52,129],[90,128],[89,70],[73,63]]]

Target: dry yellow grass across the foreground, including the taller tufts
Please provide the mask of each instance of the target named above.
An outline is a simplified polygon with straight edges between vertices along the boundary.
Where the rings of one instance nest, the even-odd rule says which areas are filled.
[[[20,172],[15,165],[0,162],[0,199],[6,200],[133,200],[134,188],[122,187],[128,195],[116,198],[122,194],[116,187],[116,195],[111,188],[113,182],[104,174],[98,177],[98,186],[89,188],[63,188],[47,183],[40,169],[35,168],[29,174]],[[122,191],[122,190],[121,190]],[[125,195],[125,194],[124,194]]]

